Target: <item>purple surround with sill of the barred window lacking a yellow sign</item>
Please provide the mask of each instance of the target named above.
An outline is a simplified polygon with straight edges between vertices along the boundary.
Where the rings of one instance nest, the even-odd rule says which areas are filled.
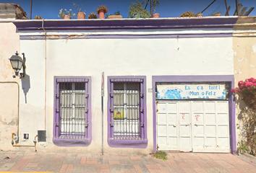
[[[56,127],[56,102],[55,102],[55,95],[54,95],[54,137],[53,143],[56,146],[89,146],[92,141],[92,112],[91,112],[91,77],[90,76],[54,76],[54,94],[59,90],[56,87],[56,79],[69,79],[75,81],[75,79],[88,79],[88,138],[85,140],[81,139],[64,139],[64,138],[56,138],[55,132]],[[80,81],[80,80],[77,80]]]

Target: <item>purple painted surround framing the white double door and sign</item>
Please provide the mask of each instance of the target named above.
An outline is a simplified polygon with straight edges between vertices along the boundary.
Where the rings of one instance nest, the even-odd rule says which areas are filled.
[[[152,76],[153,87],[153,151],[156,152],[156,108],[155,108],[155,84],[157,82],[229,82],[231,88],[234,88],[233,75],[213,75],[213,76]],[[234,94],[229,97],[229,118],[230,118],[230,146],[231,153],[236,154],[236,105]]]

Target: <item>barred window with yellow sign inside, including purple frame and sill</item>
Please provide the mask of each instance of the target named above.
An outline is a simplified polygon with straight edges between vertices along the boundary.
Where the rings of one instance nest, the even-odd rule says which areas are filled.
[[[145,148],[148,144],[145,76],[113,76],[108,77],[108,81],[108,144],[113,147]]]

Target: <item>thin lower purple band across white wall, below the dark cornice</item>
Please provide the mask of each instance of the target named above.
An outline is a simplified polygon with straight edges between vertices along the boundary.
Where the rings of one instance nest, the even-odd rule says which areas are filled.
[[[160,35],[58,35],[56,37],[48,37],[48,40],[55,39],[97,39],[97,38],[189,38],[189,37],[231,37],[232,32],[226,33],[202,33],[202,34],[160,34]],[[45,40],[44,35],[20,35],[20,40]]]

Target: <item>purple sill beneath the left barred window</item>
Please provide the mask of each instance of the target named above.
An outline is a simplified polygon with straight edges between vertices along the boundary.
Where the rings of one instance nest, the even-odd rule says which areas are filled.
[[[91,139],[65,139],[65,138],[53,138],[53,143],[56,146],[89,146],[91,143]]]

